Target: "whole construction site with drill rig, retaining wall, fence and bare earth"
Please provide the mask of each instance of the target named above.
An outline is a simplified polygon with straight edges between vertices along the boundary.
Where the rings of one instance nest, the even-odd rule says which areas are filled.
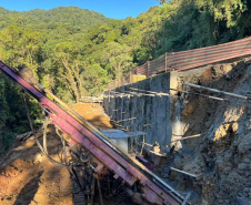
[[[0,158],[0,204],[250,205],[250,48],[165,53],[72,105],[0,62],[44,112]]]

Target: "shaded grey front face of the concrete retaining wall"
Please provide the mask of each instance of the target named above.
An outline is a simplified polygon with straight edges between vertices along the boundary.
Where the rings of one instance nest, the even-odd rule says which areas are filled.
[[[163,73],[138,83],[117,88],[116,92],[132,94],[135,92],[131,88],[152,92],[169,93],[170,73]],[[139,91],[140,93],[145,93]],[[110,96],[109,96],[110,93]],[[148,93],[150,94],[150,93]],[[114,121],[121,121],[120,124],[129,131],[147,132],[145,142],[159,142],[163,147],[170,144],[171,130],[171,113],[170,98],[167,95],[116,95],[113,92],[104,93],[103,106],[106,113]],[[133,119],[135,120],[128,120]]]

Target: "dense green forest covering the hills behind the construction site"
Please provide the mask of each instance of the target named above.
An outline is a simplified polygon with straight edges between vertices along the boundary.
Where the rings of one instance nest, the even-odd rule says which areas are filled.
[[[248,0],[160,2],[162,6],[124,20],[76,7],[26,12],[0,7],[0,60],[12,68],[31,68],[41,84],[62,101],[78,103],[164,52],[251,34]],[[33,123],[41,125],[37,102],[29,98],[28,103]],[[17,134],[27,131],[22,91],[0,73],[0,154]]]

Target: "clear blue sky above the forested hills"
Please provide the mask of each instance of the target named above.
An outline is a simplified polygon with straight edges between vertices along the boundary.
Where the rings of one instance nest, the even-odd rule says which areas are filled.
[[[158,0],[0,0],[0,7],[8,10],[50,10],[57,7],[74,6],[114,19],[138,17],[142,12],[147,12],[150,7],[159,4]]]

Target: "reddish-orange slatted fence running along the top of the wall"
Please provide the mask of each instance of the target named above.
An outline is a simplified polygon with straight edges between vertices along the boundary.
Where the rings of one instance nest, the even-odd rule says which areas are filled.
[[[135,82],[133,81],[133,75],[145,75],[145,78],[151,78],[158,73],[168,72],[170,70],[184,71],[248,54],[251,54],[251,37],[213,47],[180,52],[167,52],[153,61],[148,61],[144,64],[137,66],[120,79],[111,81],[108,84],[108,90]]]

